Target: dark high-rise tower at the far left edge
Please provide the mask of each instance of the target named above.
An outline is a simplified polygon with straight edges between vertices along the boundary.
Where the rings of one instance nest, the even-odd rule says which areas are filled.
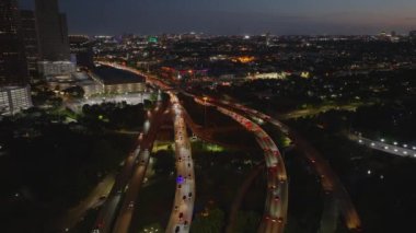
[[[0,86],[26,85],[27,62],[16,0],[0,1]]]

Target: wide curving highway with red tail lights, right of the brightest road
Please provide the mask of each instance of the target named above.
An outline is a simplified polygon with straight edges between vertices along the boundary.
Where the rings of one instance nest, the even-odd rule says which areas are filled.
[[[217,109],[252,131],[264,151],[267,167],[267,195],[264,219],[258,232],[282,233],[287,222],[288,180],[284,160],[271,138],[256,124],[234,112],[217,106]]]

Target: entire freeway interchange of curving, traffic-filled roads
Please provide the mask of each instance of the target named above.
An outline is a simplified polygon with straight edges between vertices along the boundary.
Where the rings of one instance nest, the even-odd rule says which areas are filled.
[[[267,167],[267,191],[266,199],[264,200],[265,208],[263,219],[258,226],[258,232],[285,232],[285,225],[287,224],[288,218],[289,184],[285,162],[278,145],[276,145],[274,140],[264,129],[262,129],[262,127],[249,119],[254,117],[270,123],[294,141],[297,147],[304,152],[303,154],[305,159],[310,162],[315,173],[320,176],[322,189],[331,197],[330,199],[335,198],[338,201],[345,225],[353,232],[360,231],[361,222],[358,213],[348,193],[342,185],[339,178],[332,171],[328,163],[296,131],[291,130],[279,120],[238,103],[198,96],[186,93],[183,90],[174,90],[155,77],[143,74],[132,68],[108,62],[102,62],[102,65],[145,75],[149,84],[170,94],[170,113],[172,114],[175,139],[176,189],[171,215],[165,230],[166,232],[189,232],[194,214],[194,202],[197,197],[197,190],[195,190],[196,180],[194,162],[192,159],[190,143],[186,131],[184,116],[185,109],[181,105],[175,92],[182,92],[186,95],[193,96],[198,104],[209,104],[215,106],[220,113],[231,117],[255,136],[257,143],[264,152]],[[122,171],[119,178],[116,179],[116,184],[113,188],[114,191],[111,193],[100,212],[93,232],[127,233],[132,231],[131,229],[129,230],[129,225],[130,221],[132,221],[131,212],[132,207],[136,205],[135,198],[139,193],[149,163],[149,150],[151,150],[155,133],[161,125],[160,118],[162,118],[161,116],[164,116],[165,113],[163,110],[164,107],[158,106],[157,108],[159,109],[155,109],[154,113],[159,113],[160,117],[158,117],[158,114],[154,114],[157,117],[155,119],[152,119],[153,124],[151,124],[149,132],[138,139],[138,144],[140,144],[140,147],[126,159],[125,167]],[[139,165],[135,166],[134,163],[138,160],[141,162],[139,162]],[[123,188],[125,188],[125,190],[123,190]]]

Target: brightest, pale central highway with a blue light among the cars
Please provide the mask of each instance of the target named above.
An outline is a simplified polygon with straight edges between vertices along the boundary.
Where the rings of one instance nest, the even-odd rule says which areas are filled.
[[[183,107],[170,92],[175,135],[176,190],[174,206],[166,226],[167,233],[189,232],[195,202],[195,174],[190,143],[186,131]]]

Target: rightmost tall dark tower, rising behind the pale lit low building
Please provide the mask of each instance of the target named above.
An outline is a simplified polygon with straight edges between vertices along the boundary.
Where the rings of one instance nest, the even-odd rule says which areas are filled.
[[[35,0],[41,59],[69,60],[68,26],[58,0]]]

